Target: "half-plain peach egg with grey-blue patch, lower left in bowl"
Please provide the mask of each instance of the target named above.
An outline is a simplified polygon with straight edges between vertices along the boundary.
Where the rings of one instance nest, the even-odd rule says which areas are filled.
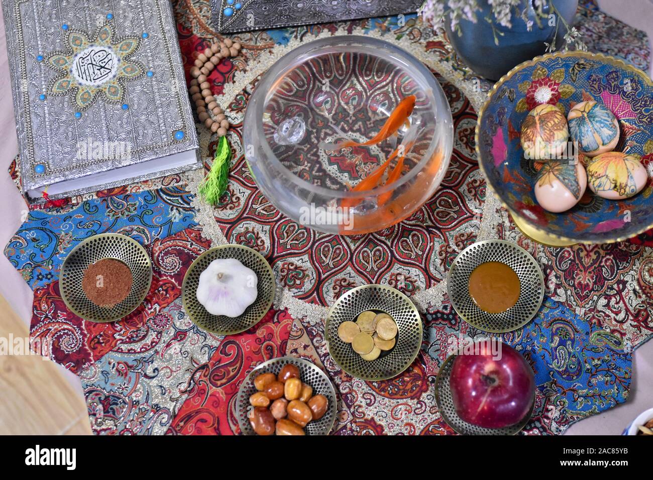
[[[535,178],[535,199],[545,210],[560,213],[581,200],[587,187],[587,174],[580,162],[551,160],[544,163]]]

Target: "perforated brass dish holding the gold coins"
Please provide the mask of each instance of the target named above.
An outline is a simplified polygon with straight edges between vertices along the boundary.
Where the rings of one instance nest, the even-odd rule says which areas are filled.
[[[362,359],[338,336],[341,323],[355,320],[366,310],[387,313],[398,328],[394,347],[372,361]],[[362,285],[340,296],[329,309],[325,330],[328,351],[338,366],[364,380],[398,376],[413,363],[422,345],[422,319],[417,308],[406,295],[387,285]]]

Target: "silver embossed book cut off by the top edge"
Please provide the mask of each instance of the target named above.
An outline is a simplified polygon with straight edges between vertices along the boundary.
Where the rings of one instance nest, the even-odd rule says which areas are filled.
[[[220,33],[340,22],[417,12],[424,0],[211,0]]]

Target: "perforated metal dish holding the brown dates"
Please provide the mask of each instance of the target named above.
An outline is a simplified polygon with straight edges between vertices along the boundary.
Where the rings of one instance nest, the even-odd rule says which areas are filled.
[[[313,395],[322,394],[327,397],[328,408],[323,417],[317,421],[311,421],[304,427],[306,435],[328,435],[336,422],[337,400],[336,391],[333,384],[327,377],[327,374],[320,370],[315,364],[304,359],[296,359],[295,357],[281,357],[279,359],[272,359],[263,362],[255,368],[243,381],[238,389],[238,396],[236,397],[236,418],[240,431],[244,435],[255,435],[254,430],[249,424],[247,415],[253,408],[249,404],[249,397],[257,392],[254,386],[254,378],[265,372],[278,375],[284,365],[296,365],[299,368],[300,379],[313,388]]]

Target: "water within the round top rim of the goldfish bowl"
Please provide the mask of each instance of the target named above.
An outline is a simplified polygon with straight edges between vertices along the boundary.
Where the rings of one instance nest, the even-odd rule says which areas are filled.
[[[270,89],[268,146],[283,167],[313,185],[360,191],[398,180],[421,159],[435,118],[427,91],[392,58],[319,54]]]

